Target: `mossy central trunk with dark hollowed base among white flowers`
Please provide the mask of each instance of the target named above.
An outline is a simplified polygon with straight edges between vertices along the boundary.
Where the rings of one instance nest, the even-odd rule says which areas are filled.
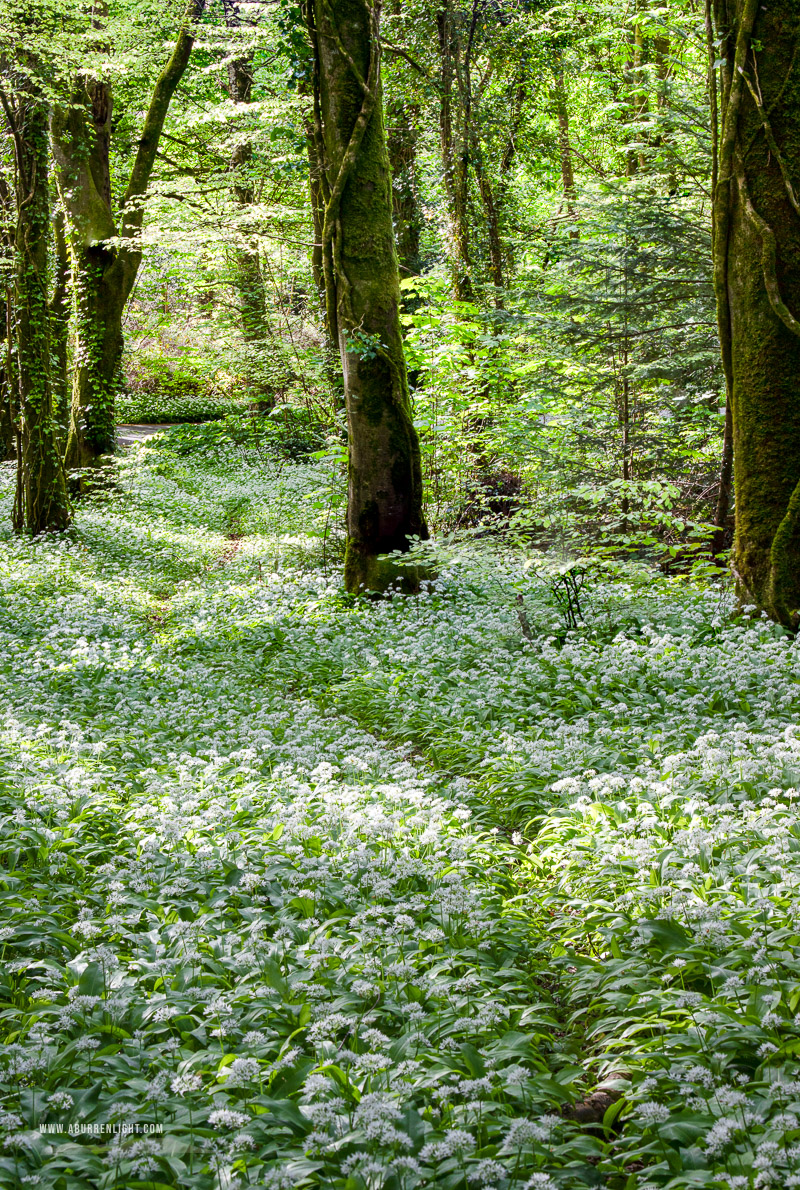
[[[407,551],[427,528],[400,332],[379,8],[365,0],[307,0],[306,17],[325,165],[329,322],[342,357],[350,441],[344,580],[352,593],[382,591],[401,574],[382,556]]]

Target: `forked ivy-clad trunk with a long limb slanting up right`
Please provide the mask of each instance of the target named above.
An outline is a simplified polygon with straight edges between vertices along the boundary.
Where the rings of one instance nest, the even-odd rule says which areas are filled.
[[[114,400],[121,378],[123,314],[142,262],[143,200],[169,104],[189,62],[192,21],[205,0],[190,0],[169,62],[150,99],[119,226],[111,206],[112,94],[89,82],[51,119],[58,188],[67,211],[75,288],[75,368],[68,468],[86,466],[114,450]]]

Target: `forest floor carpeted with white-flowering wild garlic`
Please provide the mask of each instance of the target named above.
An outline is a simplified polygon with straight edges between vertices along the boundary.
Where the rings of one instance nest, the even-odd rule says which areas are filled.
[[[330,486],[170,430],[1,531],[0,1186],[800,1185],[796,646],[352,600]]]

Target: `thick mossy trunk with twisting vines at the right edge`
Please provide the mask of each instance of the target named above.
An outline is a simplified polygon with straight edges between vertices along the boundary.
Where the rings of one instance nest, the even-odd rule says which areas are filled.
[[[732,396],[732,565],[743,602],[796,627],[800,202],[792,174],[800,156],[800,5],[715,0],[714,15],[725,60],[714,282]]]

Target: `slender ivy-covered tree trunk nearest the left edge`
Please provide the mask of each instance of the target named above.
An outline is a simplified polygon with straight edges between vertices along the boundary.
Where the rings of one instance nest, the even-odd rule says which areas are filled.
[[[48,308],[48,112],[23,96],[14,112],[17,233],[14,313],[19,447],[13,525],[17,532],[63,530],[70,522],[64,468],[56,439]]]

